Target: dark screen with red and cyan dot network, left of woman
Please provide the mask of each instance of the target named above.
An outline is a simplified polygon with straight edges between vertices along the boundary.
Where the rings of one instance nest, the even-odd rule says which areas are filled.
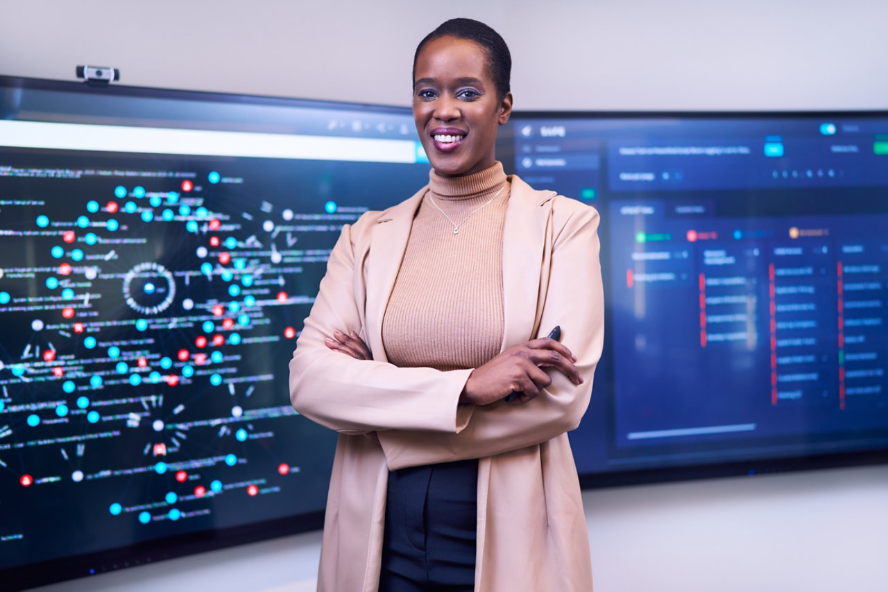
[[[318,527],[288,362],[343,225],[428,180],[408,110],[0,82],[5,581]]]

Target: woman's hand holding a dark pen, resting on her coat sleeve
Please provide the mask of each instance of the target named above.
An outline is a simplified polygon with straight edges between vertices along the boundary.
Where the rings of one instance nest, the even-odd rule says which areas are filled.
[[[572,383],[583,384],[576,369],[576,358],[567,346],[551,337],[518,343],[500,352],[488,363],[472,370],[460,395],[461,403],[488,405],[519,393],[515,403],[527,403],[540,390],[551,384],[543,367],[551,367],[567,376]]]

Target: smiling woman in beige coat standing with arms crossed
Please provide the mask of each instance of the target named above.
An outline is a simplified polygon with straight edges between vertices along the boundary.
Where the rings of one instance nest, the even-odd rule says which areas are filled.
[[[297,341],[293,407],[340,433],[319,590],[591,589],[566,432],[602,346],[599,218],[496,162],[510,69],[474,20],[419,44],[429,185],[345,226]]]

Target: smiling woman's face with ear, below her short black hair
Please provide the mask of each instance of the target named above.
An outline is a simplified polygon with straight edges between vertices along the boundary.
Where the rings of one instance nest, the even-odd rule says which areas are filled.
[[[439,37],[416,56],[413,118],[439,175],[456,177],[496,162],[496,126],[509,121],[511,92],[502,100],[478,43]]]

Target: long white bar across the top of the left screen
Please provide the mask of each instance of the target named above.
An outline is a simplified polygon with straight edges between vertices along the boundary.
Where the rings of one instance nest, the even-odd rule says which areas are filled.
[[[414,140],[0,121],[0,146],[313,161],[428,162]]]

